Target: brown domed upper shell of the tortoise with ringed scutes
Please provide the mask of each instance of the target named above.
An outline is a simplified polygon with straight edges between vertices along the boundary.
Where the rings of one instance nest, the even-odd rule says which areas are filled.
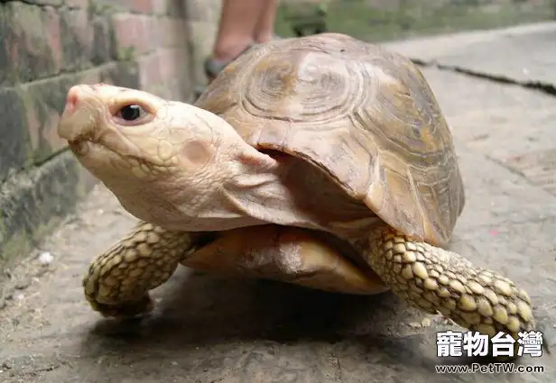
[[[338,33],[273,41],[229,64],[196,105],[255,148],[322,169],[394,229],[449,242],[463,183],[449,126],[410,59]]]

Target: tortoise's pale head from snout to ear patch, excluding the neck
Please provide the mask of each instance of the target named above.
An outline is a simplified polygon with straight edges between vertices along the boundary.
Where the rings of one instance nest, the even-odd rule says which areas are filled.
[[[68,92],[58,132],[98,178],[149,182],[178,170],[196,176],[225,155],[218,152],[225,132],[206,118],[195,106],[142,91],[79,85]]]

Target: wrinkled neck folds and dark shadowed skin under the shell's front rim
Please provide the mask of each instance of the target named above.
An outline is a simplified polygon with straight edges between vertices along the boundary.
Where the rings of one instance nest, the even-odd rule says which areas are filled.
[[[380,219],[322,169],[284,153],[244,164],[227,187],[237,211],[267,222],[316,229],[350,240]]]

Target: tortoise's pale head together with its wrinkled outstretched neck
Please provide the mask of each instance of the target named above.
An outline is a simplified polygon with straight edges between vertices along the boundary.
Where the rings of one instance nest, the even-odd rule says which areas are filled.
[[[261,223],[244,207],[257,209],[276,192],[268,187],[280,187],[276,160],[218,115],[139,90],[71,87],[58,132],[129,213],[168,228]],[[251,203],[257,188],[263,195]]]

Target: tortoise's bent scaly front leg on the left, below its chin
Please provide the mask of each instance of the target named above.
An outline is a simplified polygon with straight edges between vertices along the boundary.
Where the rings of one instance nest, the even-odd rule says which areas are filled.
[[[194,246],[196,233],[138,223],[93,260],[83,278],[91,307],[107,317],[132,317],[153,309],[148,291],[159,287]]]

